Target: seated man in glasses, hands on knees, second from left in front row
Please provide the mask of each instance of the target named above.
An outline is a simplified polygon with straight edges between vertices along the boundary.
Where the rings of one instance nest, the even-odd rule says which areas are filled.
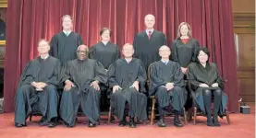
[[[62,68],[60,83],[64,91],[60,102],[60,116],[67,127],[73,127],[79,105],[89,118],[89,127],[95,127],[100,118],[100,86],[107,81],[104,65],[88,59],[89,49],[85,45],[78,48],[78,59],[68,62]]]

